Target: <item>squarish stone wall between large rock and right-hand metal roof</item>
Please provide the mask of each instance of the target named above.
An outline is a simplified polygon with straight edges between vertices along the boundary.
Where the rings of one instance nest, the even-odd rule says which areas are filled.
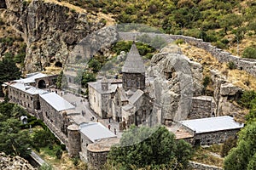
[[[211,116],[215,116],[214,99],[211,96],[193,97],[188,118],[199,119]]]

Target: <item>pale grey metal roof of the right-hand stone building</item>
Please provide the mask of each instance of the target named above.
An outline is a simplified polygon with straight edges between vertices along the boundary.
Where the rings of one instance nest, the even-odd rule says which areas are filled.
[[[189,127],[195,133],[209,133],[222,130],[239,129],[243,123],[235,122],[231,116],[216,116],[202,119],[180,121],[185,127]]]

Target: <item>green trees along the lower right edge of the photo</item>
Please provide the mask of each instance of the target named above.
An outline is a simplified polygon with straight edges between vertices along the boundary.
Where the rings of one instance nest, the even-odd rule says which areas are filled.
[[[250,109],[246,126],[239,133],[237,146],[230,150],[224,160],[224,169],[256,168],[256,93],[247,91],[242,95],[241,105]]]

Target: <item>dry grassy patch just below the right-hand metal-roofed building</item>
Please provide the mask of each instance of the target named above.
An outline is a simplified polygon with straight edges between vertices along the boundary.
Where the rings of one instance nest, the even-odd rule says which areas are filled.
[[[221,145],[218,144],[213,144],[212,146],[207,148],[195,148],[195,155],[192,158],[192,161],[216,167],[223,167],[224,158],[219,156],[220,150]]]

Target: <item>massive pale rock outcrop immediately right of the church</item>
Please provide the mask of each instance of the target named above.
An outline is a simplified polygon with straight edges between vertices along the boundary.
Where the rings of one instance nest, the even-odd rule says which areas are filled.
[[[155,103],[161,107],[163,123],[186,119],[193,95],[201,95],[202,66],[177,46],[166,46],[153,56],[148,74],[155,77]]]

